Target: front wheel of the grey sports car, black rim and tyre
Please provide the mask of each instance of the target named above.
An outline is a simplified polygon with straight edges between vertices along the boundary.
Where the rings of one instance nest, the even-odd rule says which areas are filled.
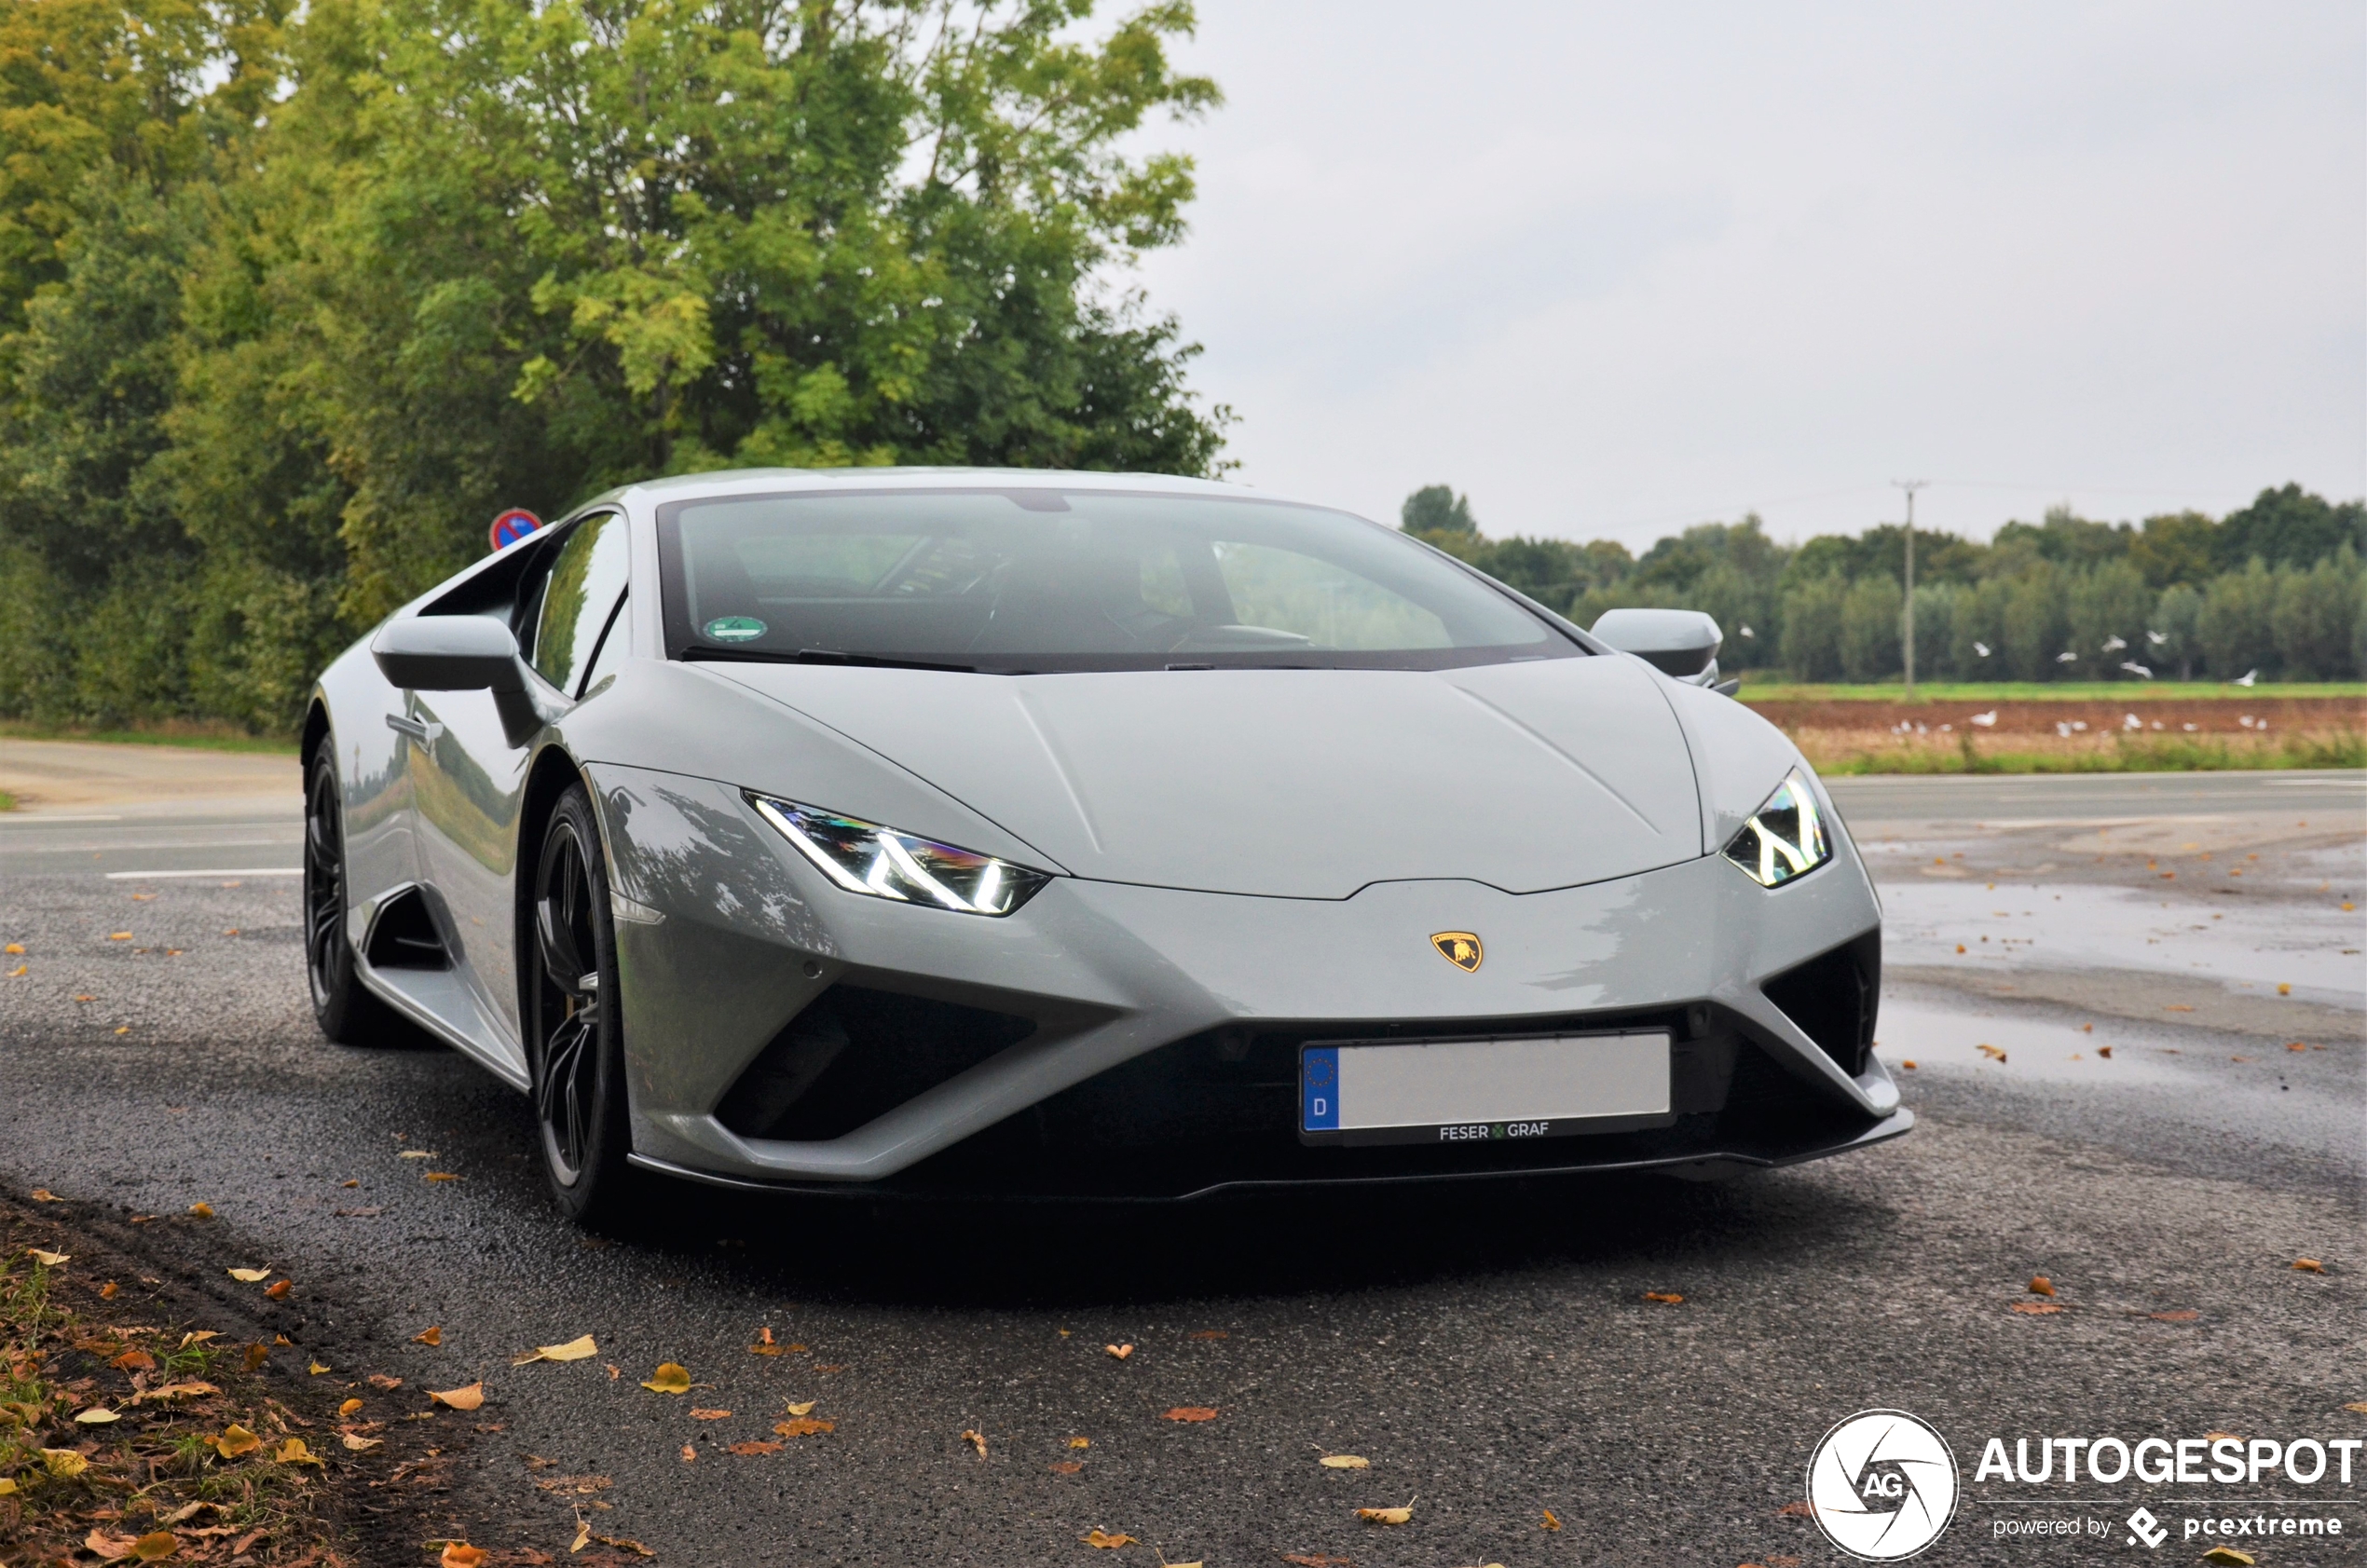
[[[625,1164],[625,1043],[608,918],[608,863],[592,797],[568,785],[535,856],[528,944],[528,1064],[535,1145],[559,1209],[578,1225],[625,1218],[639,1192]]]

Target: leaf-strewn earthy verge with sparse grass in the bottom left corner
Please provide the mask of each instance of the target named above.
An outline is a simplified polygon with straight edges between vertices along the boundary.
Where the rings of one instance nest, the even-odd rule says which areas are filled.
[[[322,1433],[258,1376],[272,1346],[128,1322],[156,1303],[83,1287],[62,1225],[0,1235],[0,1561],[343,1561]]]

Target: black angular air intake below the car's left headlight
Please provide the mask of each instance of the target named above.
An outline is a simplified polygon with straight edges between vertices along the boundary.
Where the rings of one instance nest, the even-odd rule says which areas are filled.
[[[741,1138],[845,1138],[1034,1034],[1034,1022],[831,986],[748,1064],[715,1119]]]

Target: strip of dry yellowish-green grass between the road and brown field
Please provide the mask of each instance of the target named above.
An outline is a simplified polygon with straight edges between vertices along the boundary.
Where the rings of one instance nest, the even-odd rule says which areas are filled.
[[[2204,773],[2225,769],[2367,769],[2367,733],[2315,736],[1875,736],[1801,731],[1820,773]]]

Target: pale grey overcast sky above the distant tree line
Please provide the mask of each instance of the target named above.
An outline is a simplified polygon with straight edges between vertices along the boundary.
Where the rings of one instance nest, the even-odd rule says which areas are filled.
[[[1200,0],[1238,478],[1645,546],[2367,492],[2367,7]]]

